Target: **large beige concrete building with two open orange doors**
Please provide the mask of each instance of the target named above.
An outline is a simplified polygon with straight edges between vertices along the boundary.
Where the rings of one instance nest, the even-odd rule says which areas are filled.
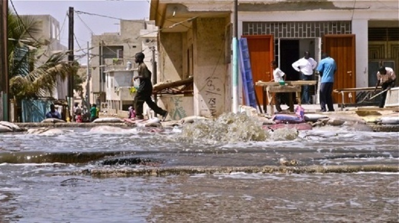
[[[152,0],[150,19],[162,30],[159,81],[193,75],[193,97],[184,97],[187,101],[180,106],[187,113],[192,107],[194,115],[217,116],[230,111],[232,104],[233,1],[203,3]],[[396,0],[239,0],[238,4],[238,35],[248,39],[254,82],[271,80],[271,60],[278,61],[290,80],[297,80],[291,64],[304,51],[316,61],[323,51],[336,60],[334,88],[375,86],[381,60],[398,71]],[[262,103],[260,87],[256,93]],[[334,99],[341,102],[338,95]]]

